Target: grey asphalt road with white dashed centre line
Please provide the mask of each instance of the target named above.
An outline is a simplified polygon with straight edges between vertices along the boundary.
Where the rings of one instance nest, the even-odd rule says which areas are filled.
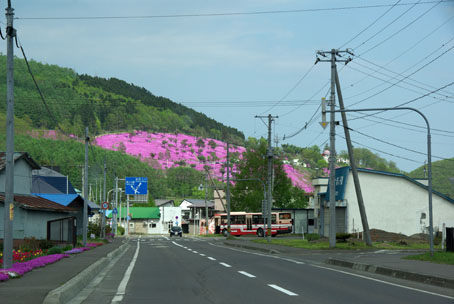
[[[74,303],[453,303],[418,288],[210,239],[144,237]],[[97,286],[96,286],[97,285]]]

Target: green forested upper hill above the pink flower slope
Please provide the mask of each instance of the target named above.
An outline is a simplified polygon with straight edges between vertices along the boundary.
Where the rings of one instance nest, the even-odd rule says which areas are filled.
[[[68,68],[30,61],[55,122],[39,97],[25,61],[16,58],[14,64],[15,115],[33,128],[57,129],[57,122],[65,133],[78,136],[88,126],[95,135],[140,129],[244,142],[243,133],[237,129],[144,88],[116,78],[78,75]],[[5,66],[6,57],[0,55],[0,69]],[[6,91],[5,73],[0,74],[0,90]],[[0,111],[4,113],[5,107],[6,103],[1,103]]]

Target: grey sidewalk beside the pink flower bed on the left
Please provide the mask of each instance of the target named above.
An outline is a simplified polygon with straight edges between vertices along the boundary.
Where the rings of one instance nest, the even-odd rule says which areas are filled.
[[[54,264],[36,268],[19,279],[0,283],[2,303],[42,303],[47,294],[76,277],[90,265],[118,249],[125,239],[117,237],[112,243],[79,254],[70,255]]]

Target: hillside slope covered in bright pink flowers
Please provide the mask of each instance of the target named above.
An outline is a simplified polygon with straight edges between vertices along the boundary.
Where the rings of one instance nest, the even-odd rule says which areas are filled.
[[[123,151],[139,157],[156,169],[186,166],[204,171],[204,166],[209,166],[216,178],[222,179],[225,174],[223,164],[227,158],[227,144],[217,139],[135,131],[101,135],[96,137],[95,144],[104,149]],[[232,145],[229,150],[233,158],[241,158],[246,151],[244,147]],[[294,186],[306,193],[313,192],[310,179],[304,172],[299,172],[288,164],[284,165],[284,170]]]

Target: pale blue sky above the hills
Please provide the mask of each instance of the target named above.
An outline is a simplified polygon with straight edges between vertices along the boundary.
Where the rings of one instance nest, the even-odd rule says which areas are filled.
[[[329,127],[319,122],[331,69],[329,62],[315,64],[316,53],[348,49],[353,55],[338,59],[352,60],[337,63],[345,107],[415,108],[430,124],[432,161],[454,157],[452,0],[11,2],[29,59],[125,80],[246,137],[267,137],[267,119],[255,117],[271,114],[277,145],[329,144]],[[0,16],[3,30],[5,23]],[[427,161],[419,114],[350,112],[347,118],[355,147],[407,172]],[[342,126],[339,114],[336,121]],[[337,152],[346,150],[341,126]]]

